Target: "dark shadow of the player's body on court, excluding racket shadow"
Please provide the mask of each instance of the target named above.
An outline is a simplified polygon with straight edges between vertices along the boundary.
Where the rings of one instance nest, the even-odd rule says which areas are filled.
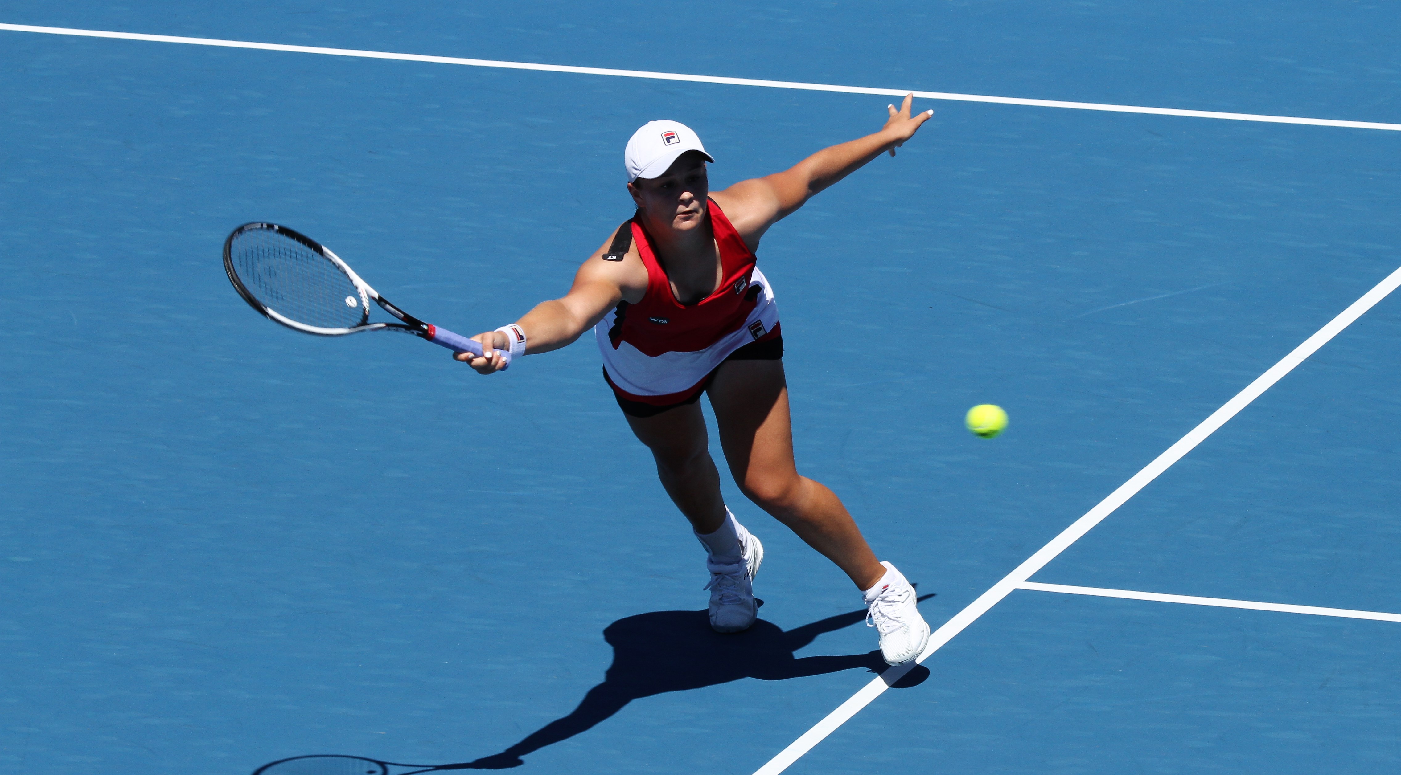
[[[932,594],[920,596],[927,600]],[[722,635],[710,629],[705,611],[653,611],[618,619],[604,629],[604,640],[614,647],[614,661],[604,683],[588,690],[567,716],[555,719],[499,754],[479,758],[451,769],[506,769],[525,764],[521,757],[567,740],[622,711],[633,699],[668,691],[698,690],[759,678],[783,681],[864,667],[873,673],[890,668],[880,652],[848,656],[794,657],[818,635],[850,626],[866,618],[866,611],[852,611],[783,632],[778,625],[758,619],[750,629]],[[929,668],[918,666],[892,688],[923,683]]]

